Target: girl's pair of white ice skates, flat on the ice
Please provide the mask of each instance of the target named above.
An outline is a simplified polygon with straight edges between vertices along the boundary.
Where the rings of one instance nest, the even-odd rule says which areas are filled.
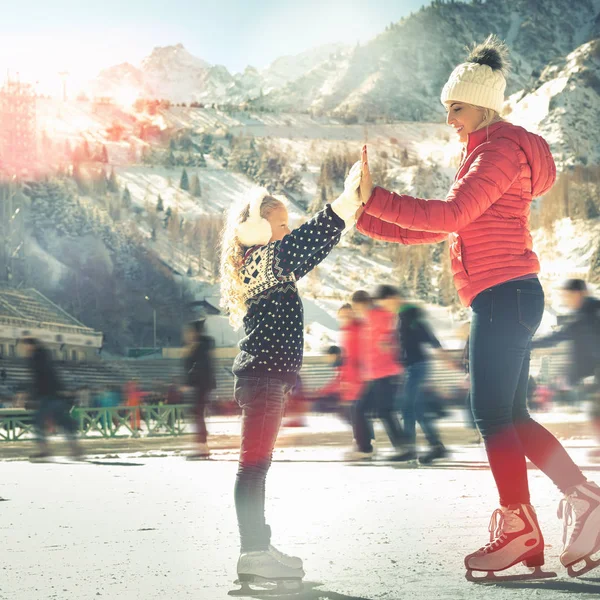
[[[277,556],[281,556],[282,560]],[[286,561],[285,563],[283,561]],[[290,566],[300,563],[300,567]],[[287,563],[287,564],[286,564]],[[285,595],[302,591],[302,560],[283,554],[273,546],[260,552],[244,552],[238,560],[236,585],[240,589],[229,592],[230,596]],[[254,586],[254,587],[252,587]],[[255,588],[259,589],[255,589]]]

